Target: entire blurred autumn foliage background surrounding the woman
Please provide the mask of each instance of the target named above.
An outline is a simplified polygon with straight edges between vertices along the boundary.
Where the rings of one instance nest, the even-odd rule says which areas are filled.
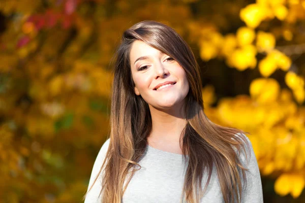
[[[304,0],[0,0],[0,202],[81,202],[142,20],[189,43],[207,116],[251,133],[264,202],[305,202]]]

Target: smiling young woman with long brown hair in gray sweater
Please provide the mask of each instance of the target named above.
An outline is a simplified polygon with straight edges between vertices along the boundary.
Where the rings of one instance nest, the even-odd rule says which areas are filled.
[[[85,203],[263,202],[249,139],[206,117],[198,64],[172,28],[126,30],[112,88],[110,138]]]

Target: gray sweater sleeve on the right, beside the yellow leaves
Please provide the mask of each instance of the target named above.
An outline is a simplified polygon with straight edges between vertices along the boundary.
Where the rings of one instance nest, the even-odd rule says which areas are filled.
[[[245,172],[247,184],[246,188],[242,189],[241,203],[263,203],[262,182],[253,146],[249,138],[245,134],[242,135],[246,137],[250,148],[248,149],[246,146],[248,161],[245,153],[241,153],[240,155],[241,164],[249,170]]]

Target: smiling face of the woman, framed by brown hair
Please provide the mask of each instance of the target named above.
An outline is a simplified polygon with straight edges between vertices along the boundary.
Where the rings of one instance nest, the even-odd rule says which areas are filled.
[[[183,104],[189,82],[181,65],[170,56],[136,40],[130,52],[135,94],[157,109]]]

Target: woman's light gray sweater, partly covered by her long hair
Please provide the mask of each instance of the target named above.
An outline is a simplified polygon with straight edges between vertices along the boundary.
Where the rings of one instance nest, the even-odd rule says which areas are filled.
[[[241,202],[261,203],[263,202],[262,184],[257,160],[251,145],[249,151],[250,161],[246,163],[245,154],[240,154],[241,163],[249,168],[246,172],[247,187],[242,192]],[[109,139],[102,146],[93,166],[89,187],[93,184],[109,146]],[[249,157],[249,156],[248,156]],[[139,161],[141,169],[131,179],[123,196],[123,203],[145,202],[145,203],[179,203],[184,183],[186,164],[182,161],[182,155],[155,149],[149,145],[146,147],[145,155]],[[207,175],[204,174],[202,188],[204,188]],[[101,181],[98,180],[92,190],[87,194],[85,203],[101,202],[99,197]],[[185,202],[185,200],[183,201]],[[217,171],[214,167],[210,183],[200,202],[219,203],[224,202]]]

